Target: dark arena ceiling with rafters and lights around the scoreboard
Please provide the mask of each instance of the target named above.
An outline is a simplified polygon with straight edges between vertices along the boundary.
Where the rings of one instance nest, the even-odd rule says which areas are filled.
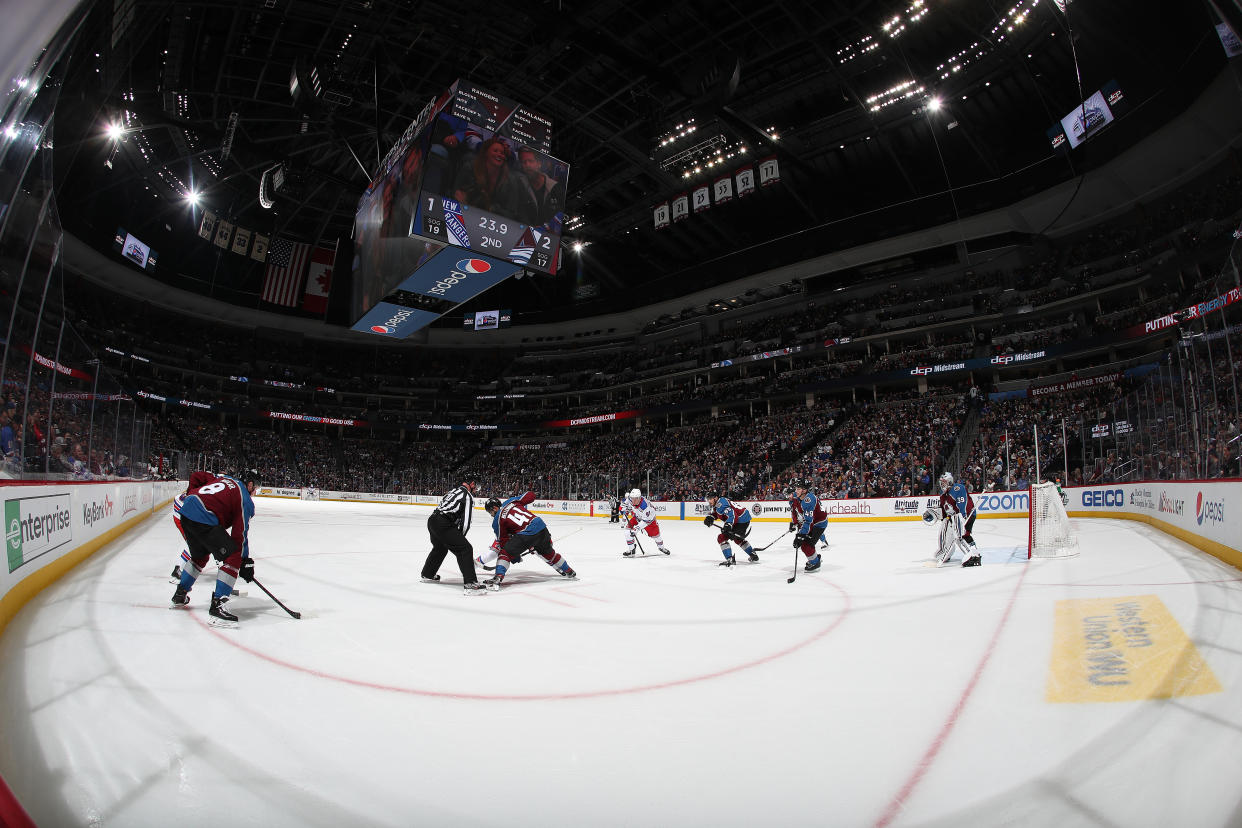
[[[204,268],[191,189],[260,232],[348,237],[378,159],[469,78],[550,117],[571,164],[566,241],[587,243],[558,279],[496,300],[664,298],[1072,178],[1175,117],[1225,62],[1200,2],[1069,9],[1067,25],[1052,0],[107,0],[63,71],[61,210],[99,245],[117,220],[145,228],[165,272]],[[320,97],[293,99],[296,65]],[[1112,79],[1126,114],[1054,155],[1048,127]],[[119,146],[109,122],[129,130]],[[653,228],[657,204],[766,156],[777,184]],[[276,164],[291,189],[265,210]]]

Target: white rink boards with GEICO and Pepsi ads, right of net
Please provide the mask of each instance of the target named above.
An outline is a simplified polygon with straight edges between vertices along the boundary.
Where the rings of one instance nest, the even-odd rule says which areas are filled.
[[[1146,515],[1231,549],[1242,546],[1242,483],[1150,482],[1069,490],[1072,515]]]

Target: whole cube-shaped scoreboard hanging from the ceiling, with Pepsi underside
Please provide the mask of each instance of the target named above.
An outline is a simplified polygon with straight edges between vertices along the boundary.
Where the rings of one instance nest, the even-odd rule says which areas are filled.
[[[519,273],[555,274],[569,165],[551,122],[458,81],[359,200],[353,330],[404,339]]]

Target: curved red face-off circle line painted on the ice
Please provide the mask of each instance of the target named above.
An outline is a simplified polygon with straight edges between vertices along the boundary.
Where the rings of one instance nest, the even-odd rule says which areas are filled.
[[[816,578],[816,580],[821,581],[821,578]],[[769,653],[768,655],[761,655],[761,657],[751,659],[749,662],[743,662],[741,664],[735,664],[733,667],[725,667],[723,669],[713,670],[710,673],[703,673],[700,675],[689,675],[689,677],[686,677],[683,679],[672,679],[669,682],[656,682],[656,683],[652,683],[652,684],[638,684],[638,685],[635,685],[635,686],[630,686],[630,688],[612,688],[612,689],[606,689],[606,690],[581,690],[581,691],[576,691],[576,693],[530,693],[530,694],[457,693],[457,691],[451,691],[451,690],[426,690],[426,689],[421,689],[421,688],[399,686],[399,685],[394,685],[394,684],[381,684],[379,682],[366,682],[366,680],[363,680],[363,679],[349,678],[348,675],[335,675],[333,673],[325,673],[323,670],[317,670],[317,669],[313,669],[313,668],[309,668],[309,667],[303,667],[301,664],[293,664],[292,662],[286,662],[283,659],[276,658],[274,655],[268,655],[267,653],[261,653],[257,649],[253,649],[251,647],[246,647],[245,644],[240,643],[237,641],[237,632],[236,631],[217,629],[217,628],[212,627],[211,624],[209,624],[202,618],[202,613],[196,612],[196,613],[193,613],[191,617],[194,618],[194,622],[196,624],[199,624],[200,627],[202,627],[209,633],[211,633],[212,636],[215,636],[216,638],[219,638],[221,642],[229,644],[230,647],[236,647],[237,649],[242,650],[243,653],[253,655],[255,658],[258,658],[261,660],[268,662],[271,664],[276,664],[278,667],[283,667],[286,669],[291,669],[291,670],[294,670],[294,672],[298,672],[298,673],[306,673],[307,675],[313,675],[315,678],[328,679],[329,682],[339,682],[342,684],[350,684],[350,685],[354,685],[354,686],[363,686],[363,688],[369,688],[369,689],[373,689],[373,690],[386,690],[389,693],[405,693],[405,694],[409,694],[409,695],[431,696],[431,698],[438,698],[438,699],[461,699],[461,700],[481,700],[481,701],[554,701],[554,700],[561,700],[561,699],[594,699],[594,698],[610,696],[610,695],[627,695],[627,694],[632,694],[632,693],[646,693],[648,690],[663,690],[663,689],[667,689],[667,688],[683,686],[683,685],[687,685],[687,684],[696,684],[698,682],[707,682],[709,679],[717,679],[717,678],[720,678],[723,675],[729,675],[730,673],[740,673],[743,670],[748,670],[748,669],[754,668],[754,667],[760,667],[763,664],[768,664],[769,662],[775,662],[775,660],[777,660],[780,658],[784,658],[786,655],[796,653],[797,650],[800,650],[800,649],[802,649],[805,647],[809,647],[810,644],[814,644],[815,642],[820,641],[821,638],[823,638],[825,636],[827,636],[828,633],[831,633],[832,631],[835,631],[837,627],[840,627],[841,622],[843,622],[846,619],[846,617],[850,614],[850,612],[853,610],[853,605],[852,605],[852,602],[850,600],[850,593],[848,592],[846,592],[845,590],[842,590],[840,586],[837,586],[832,581],[822,581],[822,582],[826,583],[827,586],[831,586],[833,590],[836,590],[837,592],[841,593],[841,598],[842,598],[845,606],[841,608],[841,612],[837,613],[833,617],[832,622],[828,623],[828,626],[826,626],[822,629],[815,632],[814,634],[811,634],[807,638],[791,644],[790,647],[786,647],[784,649],[779,649],[776,652]]]

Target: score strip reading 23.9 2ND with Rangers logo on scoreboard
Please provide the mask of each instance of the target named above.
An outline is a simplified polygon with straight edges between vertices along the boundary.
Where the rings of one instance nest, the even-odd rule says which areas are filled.
[[[424,190],[420,236],[554,273],[560,236]]]

